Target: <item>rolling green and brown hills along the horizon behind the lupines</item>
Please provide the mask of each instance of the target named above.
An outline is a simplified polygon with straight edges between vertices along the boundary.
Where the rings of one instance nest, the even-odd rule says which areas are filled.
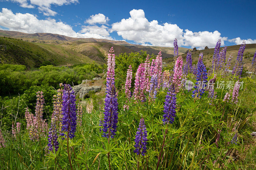
[[[4,38],[5,37],[5,38]],[[42,63],[54,65],[73,65],[79,63],[106,63],[106,56],[110,47],[114,47],[115,54],[146,51],[149,55],[157,55],[162,51],[163,62],[172,63],[173,48],[155,47],[130,44],[126,41],[114,41],[95,38],[73,38],[52,33],[21,33],[17,31],[0,30],[0,45],[6,46],[6,51],[0,50],[2,63],[24,64],[27,67],[38,67]],[[227,57],[233,55],[230,68],[236,63],[236,55],[240,45],[228,46]],[[223,48],[223,47],[222,47]],[[220,49],[222,49],[220,48]],[[183,56],[188,48],[179,48],[179,55]],[[244,66],[250,69],[256,44],[246,44],[244,52]],[[197,63],[198,55],[204,53],[204,62],[211,66],[214,48],[192,52],[193,63]]]

